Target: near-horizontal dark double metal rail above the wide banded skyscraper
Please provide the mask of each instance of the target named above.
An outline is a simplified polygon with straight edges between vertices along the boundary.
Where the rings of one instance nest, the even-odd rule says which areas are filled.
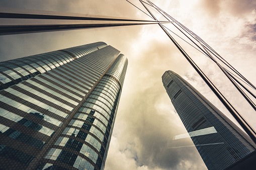
[[[138,20],[50,11],[9,8],[0,8],[0,11],[0,35],[157,24],[154,20]],[[10,24],[11,20],[17,23],[17,25]],[[163,23],[170,22],[165,21]]]

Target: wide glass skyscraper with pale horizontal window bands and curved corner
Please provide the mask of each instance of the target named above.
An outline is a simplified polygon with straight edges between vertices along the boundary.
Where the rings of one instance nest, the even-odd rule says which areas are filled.
[[[103,169],[127,68],[98,42],[0,63],[0,169]]]

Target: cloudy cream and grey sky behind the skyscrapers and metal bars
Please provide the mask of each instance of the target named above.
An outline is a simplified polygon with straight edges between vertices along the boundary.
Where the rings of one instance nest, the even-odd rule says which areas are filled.
[[[130,2],[146,12],[139,1]],[[255,1],[152,2],[200,36],[252,84],[256,84]],[[150,19],[124,0],[2,0],[0,6]],[[165,26],[179,34],[170,24]],[[173,36],[255,129],[255,111],[241,98],[236,89],[231,87],[223,73],[207,57]],[[0,36],[0,61],[98,41],[115,47],[128,58],[105,169],[207,169],[196,147],[191,146],[193,142],[190,138],[185,138],[182,143],[172,141],[175,135],[187,131],[165,92],[161,82],[162,74],[166,70],[178,73],[231,120],[234,118],[159,26],[126,26]]]

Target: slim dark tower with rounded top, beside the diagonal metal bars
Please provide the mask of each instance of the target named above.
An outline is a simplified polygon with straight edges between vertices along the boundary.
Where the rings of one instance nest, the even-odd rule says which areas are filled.
[[[224,169],[255,150],[255,143],[191,84],[173,71],[162,75],[163,86],[208,169]]]

